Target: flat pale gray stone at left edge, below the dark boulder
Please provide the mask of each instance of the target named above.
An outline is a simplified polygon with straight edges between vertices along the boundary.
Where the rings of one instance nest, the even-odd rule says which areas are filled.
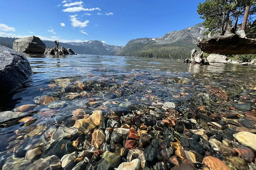
[[[29,113],[11,112],[11,111],[0,112],[0,123],[12,121],[15,119],[20,119],[27,116],[28,114]]]

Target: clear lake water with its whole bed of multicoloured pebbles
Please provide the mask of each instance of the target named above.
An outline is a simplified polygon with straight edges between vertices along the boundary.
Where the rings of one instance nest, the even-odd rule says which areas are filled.
[[[256,169],[256,69],[25,54],[0,104],[3,170]]]

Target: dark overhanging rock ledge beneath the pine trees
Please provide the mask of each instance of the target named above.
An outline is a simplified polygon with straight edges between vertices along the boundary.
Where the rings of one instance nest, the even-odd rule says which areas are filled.
[[[237,34],[199,38],[197,46],[206,53],[256,54],[256,39],[242,38]]]

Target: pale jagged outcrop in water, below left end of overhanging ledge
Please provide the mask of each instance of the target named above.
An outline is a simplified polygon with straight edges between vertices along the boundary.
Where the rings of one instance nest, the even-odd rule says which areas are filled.
[[[203,57],[203,53],[200,53],[197,49],[192,50],[191,58],[184,60],[184,63],[210,65],[208,60]]]

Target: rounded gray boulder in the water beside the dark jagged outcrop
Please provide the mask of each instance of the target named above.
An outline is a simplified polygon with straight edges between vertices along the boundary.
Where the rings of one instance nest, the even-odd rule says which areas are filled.
[[[40,38],[31,36],[16,39],[13,42],[13,49],[23,53],[44,53],[46,46]]]

